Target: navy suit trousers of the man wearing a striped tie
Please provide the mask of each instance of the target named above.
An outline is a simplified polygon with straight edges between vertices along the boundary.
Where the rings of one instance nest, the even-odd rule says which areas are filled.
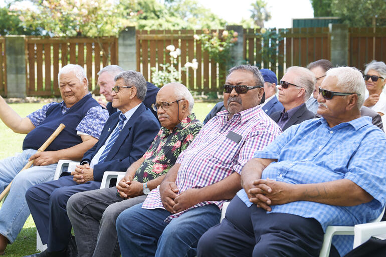
[[[68,198],[78,192],[97,189],[100,184],[89,181],[78,185],[73,176],[63,176],[27,190],[28,206],[43,244],[47,243],[48,251],[67,248],[71,236],[71,223],[66,212]]]

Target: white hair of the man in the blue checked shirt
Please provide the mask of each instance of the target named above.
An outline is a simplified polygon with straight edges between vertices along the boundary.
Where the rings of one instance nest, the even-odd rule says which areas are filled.
[[[365,83],[362,73],[353,67],[337,67],[326,72],[327,77],[336,77],[336,86],[341,89],[342,93],[357,93],[358,101],[356,107],[360,107],[364,102]]]

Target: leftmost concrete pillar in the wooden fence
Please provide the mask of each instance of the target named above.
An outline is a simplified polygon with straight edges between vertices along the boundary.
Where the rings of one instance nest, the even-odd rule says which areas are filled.
[[[6,36],[7,97],[26,97],[25,36]]]

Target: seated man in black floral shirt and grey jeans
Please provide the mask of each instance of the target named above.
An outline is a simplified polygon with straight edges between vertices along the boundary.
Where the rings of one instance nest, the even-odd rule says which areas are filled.
[[[79,256],[120,256],[115,220],[123,210],[145,200],[199,133],[203,125],[191,113],[193,105],[193,97],[182,84],[163,86],[153,104],[162,127],[142,158],[127,169],[117,188],[70,197],[67,214]]]

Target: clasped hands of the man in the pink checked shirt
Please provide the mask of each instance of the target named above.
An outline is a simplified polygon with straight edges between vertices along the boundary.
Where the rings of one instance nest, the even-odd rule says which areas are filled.
[[[174,182],[162,181],[159,187],[163,207],[171,213],[177,213],[200,203],[199,189],[189,188],[178,194],[179,189]]]

